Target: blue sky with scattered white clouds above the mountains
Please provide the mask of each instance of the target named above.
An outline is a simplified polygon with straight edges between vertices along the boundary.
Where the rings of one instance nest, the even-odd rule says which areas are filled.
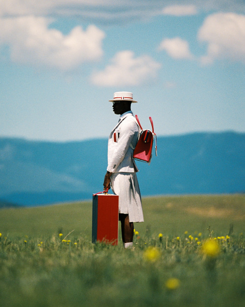
[[[0,0],[0,137],[108,137],[121,90],[158,136],[245,132],[245,1]]]

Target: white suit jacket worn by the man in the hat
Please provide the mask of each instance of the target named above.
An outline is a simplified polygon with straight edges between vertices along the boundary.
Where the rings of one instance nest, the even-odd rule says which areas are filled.
[[[110,133],[108,140],[108,167],[110,172],[137,172],[133,149],[137,144],[139,127],[132,112],[123,115]]]

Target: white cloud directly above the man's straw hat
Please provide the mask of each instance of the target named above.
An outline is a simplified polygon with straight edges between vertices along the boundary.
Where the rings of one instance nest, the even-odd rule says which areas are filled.
[[[144,84],[157,76],[160,63],[150,56],[135,57],[132,51],[121,51],[103,71],[91,76],[99,86],[124,86]]]

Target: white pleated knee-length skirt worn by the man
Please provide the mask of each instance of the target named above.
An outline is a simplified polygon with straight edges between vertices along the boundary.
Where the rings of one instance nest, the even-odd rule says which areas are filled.
[[[113,173],[111,188],[119,195],[119,213],[128,214],[129,222],[144,222],[140,188],[136,173]]]

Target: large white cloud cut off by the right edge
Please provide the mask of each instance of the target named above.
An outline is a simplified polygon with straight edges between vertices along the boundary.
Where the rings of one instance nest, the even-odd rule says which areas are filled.
[[[198,39],[208,44],[202,63],[228,58],[245,62],[245,15],[217,13],[206,18],[198,32]]]

